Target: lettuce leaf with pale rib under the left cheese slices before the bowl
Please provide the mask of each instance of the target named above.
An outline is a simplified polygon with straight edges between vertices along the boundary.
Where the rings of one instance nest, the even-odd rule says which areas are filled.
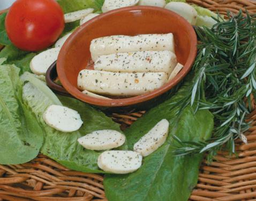
[[[41,81],[40,83],[42,84]],[[113,129],[121,132],[119,125],[86,103],[59,96],[58,98],[64,106],[79,112],[84,124],[76,132],[64,133],[57,131],[44,123],[42,118],[43,112],[54,102],[46,93],[43,93],[31,83],[26,83],[23,88],[23,99],[34,112],[44,130],[42,154],[49,156],[72,170],[103,173],[97,166],[97,157],[101,152],[84,149],[77,142],[77,139],[87,133],[102,129]],[[121,149],[127,149],[127,145],[124,144]]]

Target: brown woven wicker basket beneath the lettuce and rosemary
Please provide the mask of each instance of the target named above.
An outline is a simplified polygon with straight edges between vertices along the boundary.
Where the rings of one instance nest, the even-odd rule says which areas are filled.
[[[247,0],[187,0],[227,15],[227,11],[256,13],[256,2]],[[255,107],[254,107],[255,108]],[[111,117],[125,129],[144,112]],[[236,141],[238,156],[219,152],[212,164],[200,167],[197,187],[190,200],[256,201],[256,109],[249,116],[252,127],[246,133],[248,144]],[[46,156],[20,165],[0,165],[0,201],[107,201],[103,176],[70,171]],[[153,200],[152,200],[153,201]],[[163,200],[164,201],[164,200]]]

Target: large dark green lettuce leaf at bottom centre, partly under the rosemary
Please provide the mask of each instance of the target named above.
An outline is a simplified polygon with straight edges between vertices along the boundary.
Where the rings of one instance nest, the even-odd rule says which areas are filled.
[[[178,116],[175,102],[186,94],[187,86],[171,99],[148,111],[125,131],[129,149],[161,119],[168,119],[168,142],[145,157],[138,171],[126,175],[106,175],[104,189],[110,201],[187,201],[197,184],[202,155],[174,156],[171,135],[187,141],[206,140],[213,130],[213,116],[208,110],[195,115],[191,107]],[[177,105],[176,105],[177,106]]]

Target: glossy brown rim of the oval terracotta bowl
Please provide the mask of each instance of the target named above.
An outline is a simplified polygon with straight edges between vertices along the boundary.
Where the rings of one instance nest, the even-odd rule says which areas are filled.
[[[72,41],[77,37],[77,35],[81,32],[84,31],[84,27],[87,25],[90,25],[91,23],[94,23],[96,20],[101,20],[101,18],[104,18],[108,15],[115,15],[115,13],[123,12],[123,11],[133,11],[133,10],[152,10],[152,11],[161,11],[166,14],[172,14],[176,15],[176,18],[181,21],[182,23],[185,23],[187,28],[189,29],[190,33],[190,39],[191,39],[191,52],[189,55],[189,58],[187,59],[182,71],[179,72],[179,74],[172,79],[169,83],[165,84],[164,86],[160,87],[157,90],[154,90],[153,92],[148,92],[146,94],[138,95],[136,97],[132,98],[126,98],[126,99],[111,99],[111,100],[104,100],[104,99],[99,99],[99,98],[94,98],[94,97],[89,97],[88,95],[83,94],[82,92],[77,91],[77,88],[72,86],[69,81],[67,80],[66,74],[64,73],[64,70],[62,67],[64,66],[64,60],[65,60],[65,55],[68,51],[68,47],[71,45]],[[99,16],[93,18],[92,20],[89,20],[88,22],[84,23],[82,25],[83,29],[78,28],[74,33],[67,39],[65,44],[63,45],[61,52],[59,53],[58,60],[57,60],[57,73],[59,76],[59,79],[66,89],[67,92],[69,92],[73,97],[90,103],[94,104],[95,106],[104,106],[104,107],[123,107],[123,106],[131,106],[133,104],[138,104],[142,103],[145,101],[148,101],[150,99],[154,99],[155,97],[158,97],[159,95],[169,91],[172,87],[177,85],[186,75],[189,73],[193,62],[195,60],[195,57],[197,56],[197,35],[195,34],[195,31],[193,27],[190,25],[189,22],[187,22],[183,17],[180,15],[167,10],[167,9],[162,9],[160,7],[153,7],[153,6],[130,6],[130,7],[123,7],[121,9],[116,9],[109,11],[107,13],[100,14]]]

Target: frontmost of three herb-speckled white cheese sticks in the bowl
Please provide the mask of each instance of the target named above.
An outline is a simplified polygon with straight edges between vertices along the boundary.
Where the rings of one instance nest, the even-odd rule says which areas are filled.
[[[141,95],[167,83],[165,73],[112,73],[99,70],[81,70],[78,88],[106,95]]]

